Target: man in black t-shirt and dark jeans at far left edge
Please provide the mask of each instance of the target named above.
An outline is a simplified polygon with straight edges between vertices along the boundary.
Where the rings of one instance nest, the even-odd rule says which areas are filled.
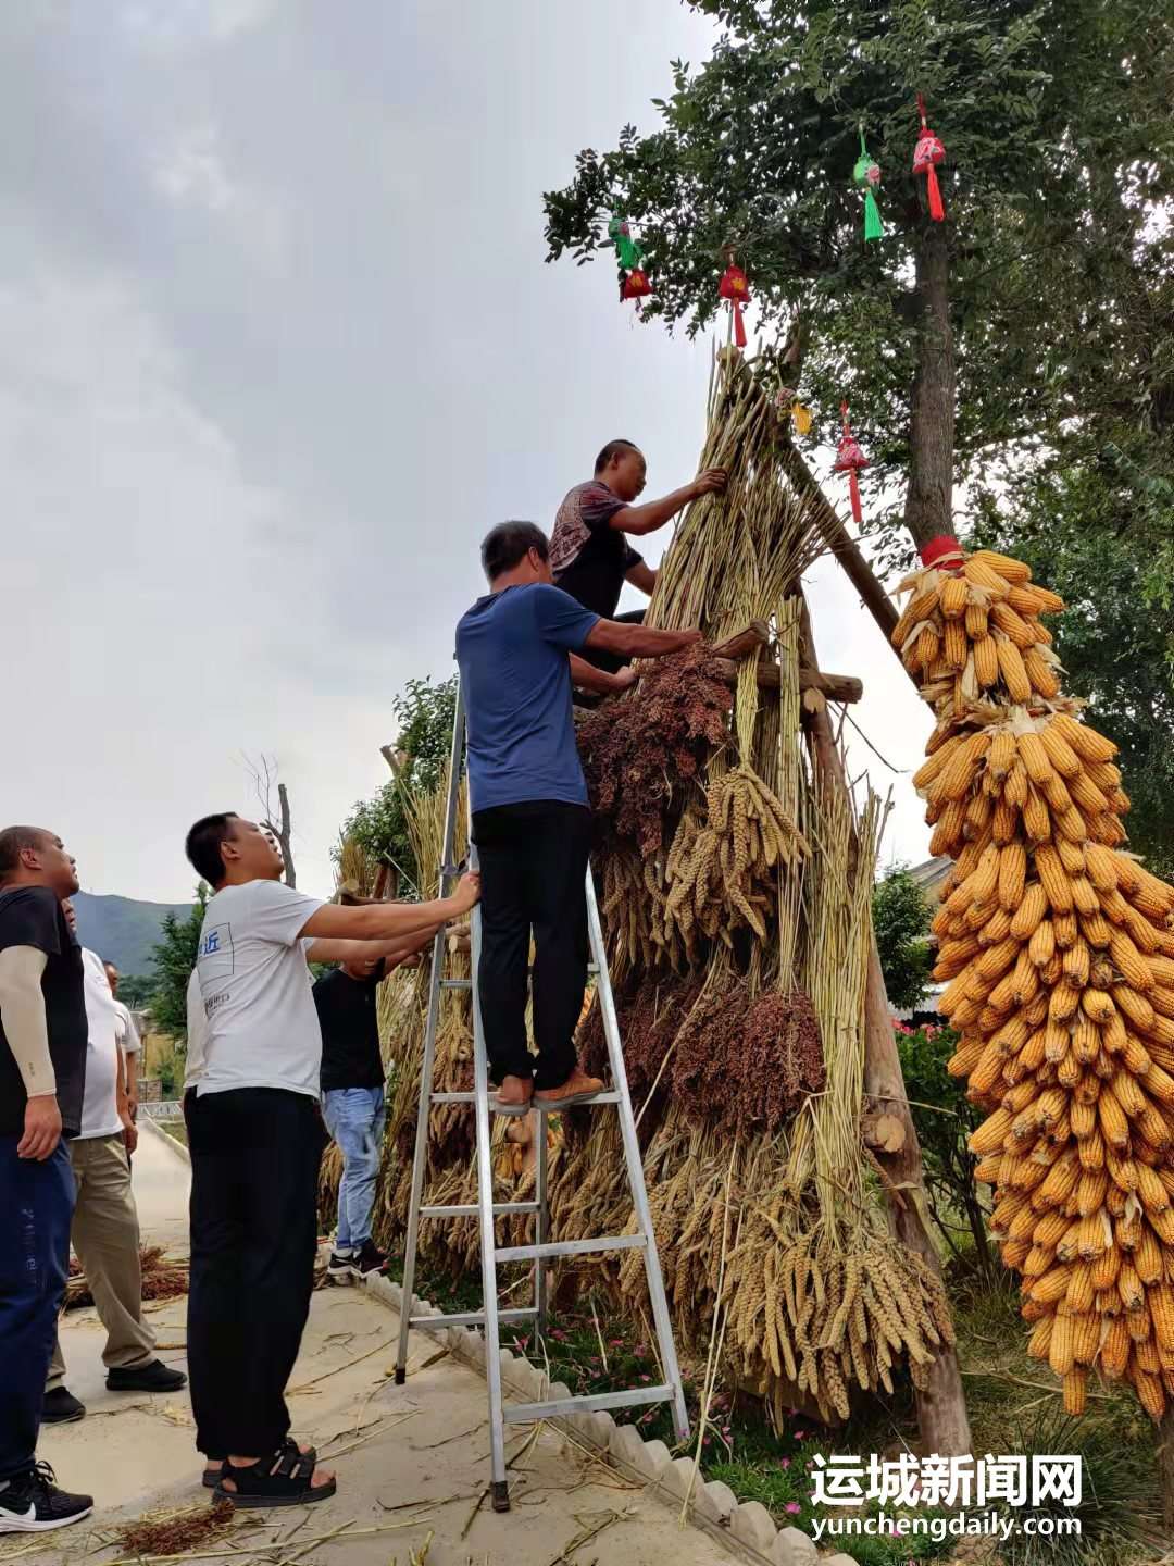
[[[69,1270],[89,1027],[81,947],[61,899],[78,889],[52,832],[0,832],[0,1533],[44,1533],[94,1510],[36,1461],[45,1373]]]

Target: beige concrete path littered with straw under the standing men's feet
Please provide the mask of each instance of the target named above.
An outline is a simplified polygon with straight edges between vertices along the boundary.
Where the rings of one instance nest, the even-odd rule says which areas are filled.
[[[144,1137],[141,1146],[146,1157],[136,1154],[135,1182],[144,1220],[150,1215],[144,1242],[160,1243],[180,1223],[175,1204],[186,1201],[188,1168],[153,1138]],[[183,1364],[185,1308],[185,1300],[149,1306],[160,1358],[169,1364]],[[673,1566],[714,1566],[731,1558],[720,1543],[681,1528],[661,1500],[567,1447],[548,1427],[529,1447],[526,1430],[509,1441],[507,1452],[517,1455],[513,1510],[498,1516],[488,1502],[477,1510],[488,1478],[485,1383],[420,1336],[407,1384],[396,1387],[396,1314],[362,1289],[315,1294],[290,1406],[296,1434],[313,1441],[322,1461],[337,1469],[338,1494],[316,1506],[241,1517],[229,1536],[232,1547],[224,1549],[222,1539],[202,1544],[202,1561],[257,1566],[247,1552],[261,1546],[274,1566],[293,1566],[299,1550],[305,1566],[420,1560],[427,1566],[556,1566],[564,1560],[664,1566],[668,1557]],[[95,1496],[92,1525],[63,1530],[44,1549],[0,1538],[0,1563],[16,1550],[22,1563],[124,1561],[125,1549],[103,1544],[119,1522],[207,1502],[186,1392],[171,1398],[106,1392],[102,1344],[92,1311],[69,1314],[63,1325],[67,1384],[89,1413],[75,1425],[42,1431],[39,1452],[63,1485]],[[312,1544],[338,1528],[344,1532],[333,1543]],[[576,1538],[582,1544],[571,1549]]]

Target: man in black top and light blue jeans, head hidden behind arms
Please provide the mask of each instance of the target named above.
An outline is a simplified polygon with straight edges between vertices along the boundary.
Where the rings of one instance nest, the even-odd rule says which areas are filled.
[[[313,990],[322,1029],[322,1118],[343,1154],[338,1234],[326,1268],[332,1278],[366,1278],[387,1261],[371,1239],[371,1204],[384,1151],[377,991],[391,966],[384,957],[341,963]]]

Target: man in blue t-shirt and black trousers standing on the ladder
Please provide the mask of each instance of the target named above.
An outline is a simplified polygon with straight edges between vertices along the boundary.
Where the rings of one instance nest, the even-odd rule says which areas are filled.
[[[457,625],[468,714],[473,841],[481,860],[477,991],[496,1107],[521,1113],[579,1102],[603,1087],[574,1059],[587,983],[584,883],[592,817],[574,744],[571,683],[614,694],[584,650],[664,658],[700,631],[604,620],[553,586],[549,545],[532,521],[504,521],[481,547],[490,592]],[[526,1045],[526,965],[534,932],[534,1041]]]

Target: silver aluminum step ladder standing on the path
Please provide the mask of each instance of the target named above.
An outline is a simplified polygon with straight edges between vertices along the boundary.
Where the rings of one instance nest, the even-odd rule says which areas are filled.
[[[457,687],[457,706],[452,723],[452,750],[449,756],[449,789],[445,810],[445,843],[441,850],[440,896],[445,896],[452,882],[460,874],[454,860],[456,817],[460,797],[460,778],[465,761],[465,705],[463,694]],[[470,844],[470,866],[476,869],[476,847]],[[596,976],[600,1005],[603,1009],[604,1035],[607,1038],[607,1059],[610,1062],[614,1088],[596,1093],[587,1104],[615,1104],[620,1115],[620,1131],[623,1137],[625,1160],[628,1165],[628,1185],[632,1195],[632,1206],[637,1215],[636,1234],[617,1234],[595,1240],[551,1240],[549,1212],[546,1200],[546,1123],[540,1120],[537,1135],[535,1159],[535,1190],[534,1201],[495,1201],[493,1200],[493,1162],[490,1154],[490,1101],[488,1065],[485,1059],[485,1035],[481,1023],[481,1002],[477,999],[477,963],[481,960],[481,908],[474,908],[470,916],[470,947],[471,947],[471,979],[448,979],[445,976],[445,960],[448,943],[445,932],[438,930],[432,943],[432,979],[427,999],[427,1021],[424,1026],[424,1059],[420,1074],[420,1112],[416,1117],[416,1145],[412,1162],[412,1201],[407,1218],[407,1247],[404,1253],[404,1295],[399,1317],[399,1351],[396,1356],[396,1386],[402,1386],[407,1375],[409,1334],[413,1326],[481,1326],[485,1334],[485,1378],[488,1381],[488,1416],[490,1416],[490,1496],[495,1511],[509,1511],[509,1481],[506,1478],[506,1425],[532,1423],[548,1416],[565,1416],[571,1411],[595,1413],[607,1408],[632,1408],[640,1403],[672,1403],[673,1427],[678,1442],[689,1439],[689,1416],[686,1413],[684,1387],[681,1370],[676,1362],[676,1345],[673,1344],[673,1328],[668,1319],[668,1303],[661,1276],[661,1257],[656,1251],[653,1236],[653,1220],[648,1211],[648,1192],[643,1182],[643,1162],[640,1145],[636,1137],[636,1120],[632,1117],[632,1101],[628,1092],[628,1074],[620,1048],[620,1027],[615,1016],[615,999],[612,996],[610,977],[607,974],[607,955],[603,943],[603,927],[600,924],[600,908],[595,899],[595,883],[590,869],[587,871],[587,930],[590,938],[592,971]],[[473,1071],[474,1090],[471,1093],[437,1093],[432,1088],[434,1060],[437,1048],[437,1023],[440,1018],[440,994],[443,990],[473,991]],[[477,1203],[476,1206],[427,1206],[423,1204],[424,1170],[427,1165],[429,1110],[434,1104],[471,1104],[477,1121]],[[540,1104],[534,1106],[540,1115],[548,1113]],[[537,1243],[534,1245],[498,1245],[493,1220],[504,1214],[532,1212],[535,1215]],[[471,1218],[481,1220],[481,1311],[460,1312],[454,1315],[413,1315],[413,1284],[416,1275],[416,1251],[420,1242],[421,1218]],[[645,1276],[648,1279],[648,1295],[653,1306],[653,1323],[661,1355],[661,1369],[665,1377],[659,1386],[629,1387],[621,1392],[601,1392],[593,1397],[560,1398],[545,1403],[502,1405],[501,1398],[501,1342],[499,1328],[502,1322],[532,1322],[542,1336],[546,1331],[548,1300],[546,1300],[546,1267],[545,1262],[556,1256],[600,1256],[606,1251],[642,1250]],[[498,1309],[498,1262],[534,1262],[534,1303],[518,1309]]]

